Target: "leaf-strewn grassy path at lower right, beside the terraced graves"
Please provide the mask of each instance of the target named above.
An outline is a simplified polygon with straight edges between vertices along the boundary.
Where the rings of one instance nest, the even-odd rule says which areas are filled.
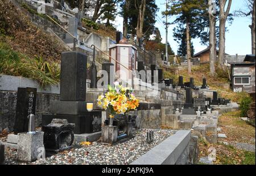
[[[218,138],[217,144],[201,139],[200,157],[208,157],[210,152],[216,151],[212,164],[255,164],[255,127],[240,119],[240,111],[222,114],[218,127],[218,133],[227,138]]]

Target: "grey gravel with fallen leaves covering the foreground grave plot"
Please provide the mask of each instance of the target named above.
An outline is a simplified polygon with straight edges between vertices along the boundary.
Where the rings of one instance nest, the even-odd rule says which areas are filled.
[[[45,161],[39,160],[29,164],[130,164],[168,136],[174,135],[176,131],[154,130],[154,141],[150,144],[146,142],[146,132],[147,129],[139,130],[135,138],[116,145],[103,145],[97,142],[89,146],[75,145],[70,151],[63,151],[47,157]],[[15,150],[6,150],[5,164],[26,164],[18,162],[16,158]]]

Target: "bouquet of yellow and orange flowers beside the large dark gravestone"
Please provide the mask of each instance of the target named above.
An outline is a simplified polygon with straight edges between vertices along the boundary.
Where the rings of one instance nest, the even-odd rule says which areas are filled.
[[[122,87],[118,82],[114,83],[114,87],[109,85],[108,92],[100,95],[97,102],[103,109],[109,109],[110,126],[115,114],[126,114],[139,106],[139,100],[133,95],[133,89]]]

